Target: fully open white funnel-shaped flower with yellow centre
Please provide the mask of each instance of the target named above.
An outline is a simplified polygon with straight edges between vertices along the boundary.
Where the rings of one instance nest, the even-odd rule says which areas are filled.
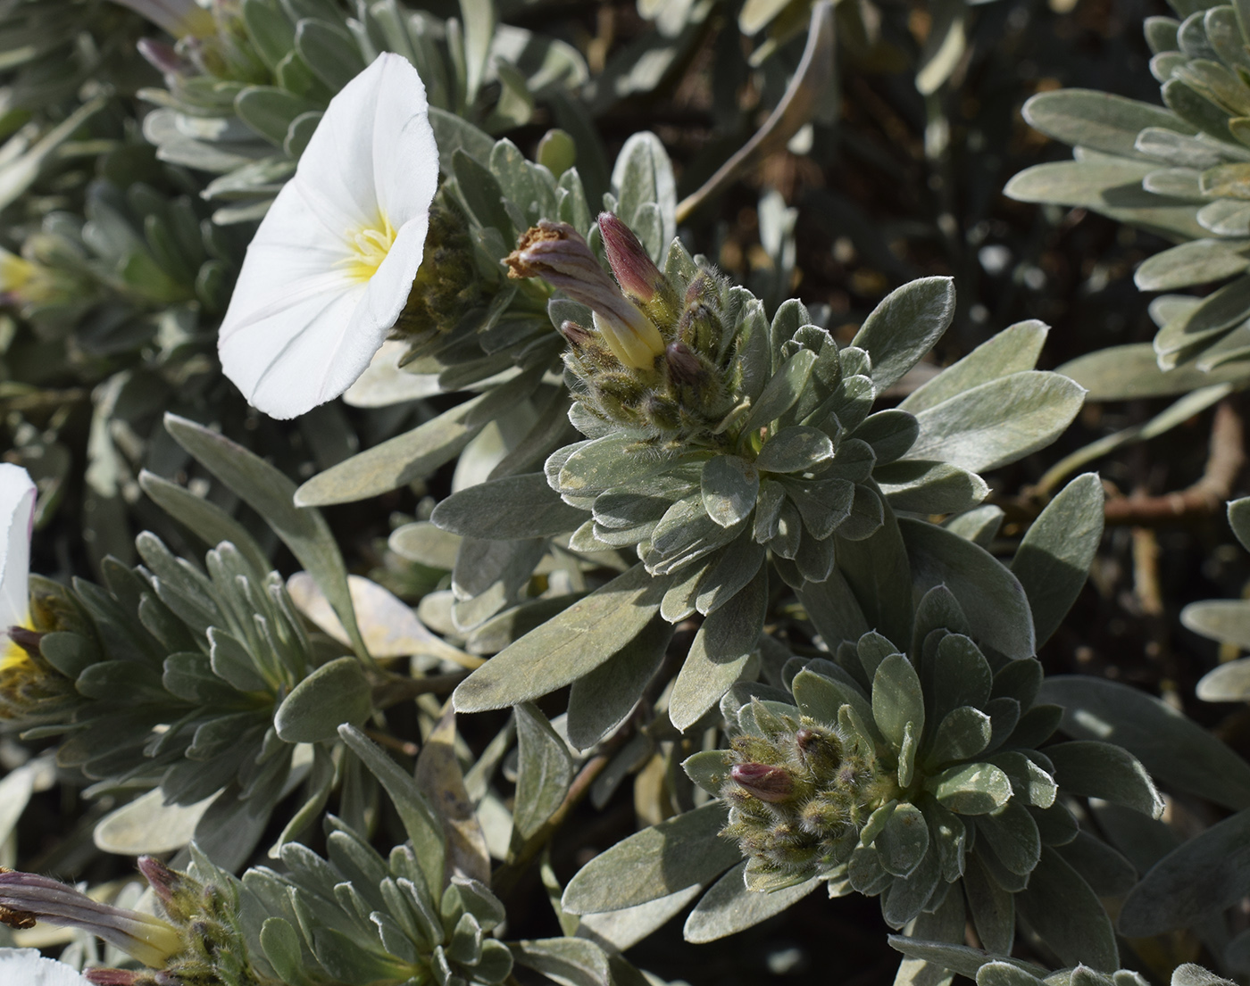
[[[295,417],[339,396],[404,310],[439,185],[428,109],[395,54],[330,101],[221,322],[221,369],[254,407]]]

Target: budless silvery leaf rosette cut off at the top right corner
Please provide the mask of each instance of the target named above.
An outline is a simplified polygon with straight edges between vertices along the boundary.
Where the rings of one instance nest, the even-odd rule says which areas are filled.
[[[1158,365],[1210,372],[1232,364],[1225,370],[1241,379],[1250,355],[1250,29],[1236,5],[1199,6],[1179,7],[1181,19],[1145,21],[1164,106],[1081,89],[1034,96],[1025,117],[1074,145],[1075,160],[1035,165],[1005,191],[1090,207],[1184,240],[1138,267],[1138,287],[1224,284],[1204,297],[1165,294],[1151,302]],[[1096,370],[1091,362],[1086,374],[1092,379]],[[1181,392],[1194,382],[1154,387]]]

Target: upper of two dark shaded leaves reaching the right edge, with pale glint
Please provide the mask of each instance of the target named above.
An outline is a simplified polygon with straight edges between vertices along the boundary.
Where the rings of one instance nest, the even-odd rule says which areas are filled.
[[[1250,766],[1159,699],[1079,675],[1048,679],[1039,699],[1064,707],[1064,732],[1124,747],[1168,786],[1234,810],[1250,806]]]

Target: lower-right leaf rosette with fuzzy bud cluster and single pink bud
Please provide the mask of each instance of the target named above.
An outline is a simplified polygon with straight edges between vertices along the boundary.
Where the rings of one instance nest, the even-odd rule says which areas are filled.
[[[1050,742],[1062,710],[1034,704],[1038,661],[1008,660],[969,634],[938,586],[916,609],[909,652],[869,632],[842,642],[835,660],[791,659],[782,669],[791,701],[760,685],[725,696],[729,749],[682,766],[728,804],[721,834],[748,857],[749,889],[819,879],[830,895],[880,895],[898,929],[935,911],[966,877],[978,935],[1005,954],[1014,919],[1009,906],[1004,922],[995,901],[1011,901],[1039,867],[1045,880],[1081,880],[1080,847],[1066,849],[1080,829],[1058,765],[1094,777],[1084,771],[1110,747]],[[1098,794],[1158,815],[1162,802],[1145,772],[1124,762]],[[1115,786],[1129,774],[1136,796],[1125,800]]]

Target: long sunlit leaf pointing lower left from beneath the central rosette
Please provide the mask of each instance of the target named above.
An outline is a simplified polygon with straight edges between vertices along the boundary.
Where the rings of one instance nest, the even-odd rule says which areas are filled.
[[[474,671],[455,691],[456,709],[504,709],[599,667],[646,629],[668,585],[635,565]]]

